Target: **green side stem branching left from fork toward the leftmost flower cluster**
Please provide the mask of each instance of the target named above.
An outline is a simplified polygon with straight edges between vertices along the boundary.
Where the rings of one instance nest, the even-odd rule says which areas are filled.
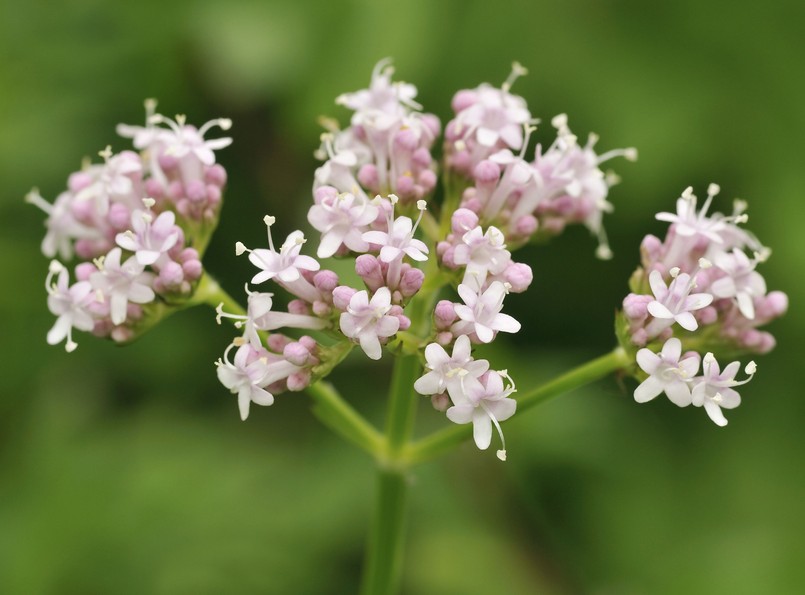
[[[208,273],[204,273],[188,305],[207,304],[230,314],[245,315],[246,310]],[[343,354],[346,355],[348,350]],[[319,380],[305,389],[313,399],[313,414],[346,441],[377,457],[385,450],[383,436],[347,403],[329,383]]]

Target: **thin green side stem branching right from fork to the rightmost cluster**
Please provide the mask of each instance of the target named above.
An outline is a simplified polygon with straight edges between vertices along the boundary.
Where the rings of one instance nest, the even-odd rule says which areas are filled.
[[[630,363],[626,352],[617,347],[606,355],[582,364],[542,386],[516,396],[517,412],[522,413],[554,397],[590,384],[628,366]],[[408,448],[403,453],[403,459],[409,465],[429,461],[452,450],[470,437],[472,437],[472,425],[452,426],[408,445]]]

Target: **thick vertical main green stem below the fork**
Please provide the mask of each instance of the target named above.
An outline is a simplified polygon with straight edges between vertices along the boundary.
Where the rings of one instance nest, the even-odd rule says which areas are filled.
[[[361,595],[393,595],[400,582],[408,485],[405,471],[380,469]]]

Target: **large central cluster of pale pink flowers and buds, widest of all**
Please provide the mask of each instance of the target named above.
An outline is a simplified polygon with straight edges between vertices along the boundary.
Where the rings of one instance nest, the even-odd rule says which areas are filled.
[[[520,330],[503,312],[504,301],[528,289],[533,274],[512,259],[507,244],[518,247],[538,229],[550,235],[583,223],[601,238],[605,255],[601,215],[611,208],[606,198],[615,178],[599,165],[616,155],[635,157],[634,150],[597,155],[594,138],[579,145],[560,115],[553,119],[557,139],[545,151],[537,146],[527,161],[536,121],[525,100],[509,92],[523,73],[515,64],[501,88],[484,84],[456,94],[445,131],[450,179],[441,201],[431,198],[437,188],[431,149],[440,124],[419,111],[413,85],[393,81],[384,60],[368,89],[337,98],[352,116],[343,130],[327,121],[322,136],[324,164],[315,173],[307,216],[320,234],[310,251],[315,258],[301,254],[301,231],[275,249],[273,217],[265,219],[268,248],[236,247],[260,271],[252,284],[271,280],[292,296],[287,312],[275,312],[272,294],[247,287],[245,316],[219,307],[219,321],[236,318],[243,330],[218,361],[218,375],[238,394],[244,418],[249,403],[268,405],[277,390],[318,380],[356,344],[373,360],[384,349],[419,354],[425,370],[412,388],[430,396],[450,421],[472,423],[481,449],[495,428],[503,443],[498,456],[505,459],[500,422],[515,412],[515,385],[505,370],[474,359],[472,349],[499,332]],[[354,258],[361,285],[322,269],[319,260],[330,257]],[[445,288],[455,292],[453,299],[438,299]],[[412,314],[423,310],[424,316]],[[307,334],[293,341],[271,333],[277,329]]]

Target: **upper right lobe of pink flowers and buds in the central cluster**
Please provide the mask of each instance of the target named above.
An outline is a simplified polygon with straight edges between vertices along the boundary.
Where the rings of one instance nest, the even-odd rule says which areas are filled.
[[[533,160],[526,160],[538,121],[531,118],[525,100],[509,92],[524,73],[515,63],[502,88],[483,84],[453,98],[456,115],[445,131],[447,167],[474,182],[464,190],[460,206],[476,213],[482,224],[504,230],[514,245],[535,234],[556,235],[567,224],[584,224],[598,237],[598,256],[609,258],[602,218],[612,210],[607,196],[618,178],[600,165],[617,156],[635,160],[637,151],[599,155],[598,137],[591,134],[586,144],[579,144],[567,116],[560,114],[551,120],[556,139],[545,150],[537,144]]]

